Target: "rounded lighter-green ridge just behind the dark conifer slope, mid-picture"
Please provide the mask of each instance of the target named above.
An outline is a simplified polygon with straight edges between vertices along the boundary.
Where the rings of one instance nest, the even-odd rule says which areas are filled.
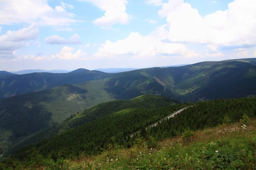
[[[69,130],[70,128],[84,125],[87,122],[91,122],[110,113],[122,111],[129,108],[161,108],[164,106],[174,105],[175,102],[176,101],[173,101],[168,97],[143,95],[131,100],[115,100],[102,103],[94,107],[88,108],[83,112],[77,112],[58,125],[49,127],[45,130],[26,137],[25,139],[12,146],[9,152],[15,153],[17,149],[20,149],[27,144],[32,144],[38,142],[41,139],[49,138],[50,136],[63,132],[64,130]]]

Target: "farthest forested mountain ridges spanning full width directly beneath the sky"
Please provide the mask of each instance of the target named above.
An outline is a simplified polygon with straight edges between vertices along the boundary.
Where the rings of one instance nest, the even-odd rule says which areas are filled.
[[[147,68],[117,74],[78,69],[65,74],[33,73],[0,77],[0,99],[65,84],[105,79],[108,91],[116,88],[169,96],[183,102],[255,95],[256,59],[200,62],[175,68]],[[224,92],[224,93],[223,93]],[[141,94],[140,94],[141,95]],[[139,96],[139,95],[138,95]]]

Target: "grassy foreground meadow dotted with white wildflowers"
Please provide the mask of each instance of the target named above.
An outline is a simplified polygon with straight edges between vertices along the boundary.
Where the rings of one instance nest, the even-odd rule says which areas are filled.
[[[221,125],[199,130],[187,139],[182,136],[166,139],[155,147],[138,139],[129,149],[115,146],[98,156],[46,160],[43,166],[26,167],[20,163],[19,167],[12,162],[9,169],[16,166],[41,170],[255,170],[255,131],[256,119],[253,119],[245,126],[241,122]]]

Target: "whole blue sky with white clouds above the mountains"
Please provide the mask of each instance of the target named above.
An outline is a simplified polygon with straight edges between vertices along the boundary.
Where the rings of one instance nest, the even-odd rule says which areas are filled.
[[[256,57],[256,0],[0,0],[0,70]]]

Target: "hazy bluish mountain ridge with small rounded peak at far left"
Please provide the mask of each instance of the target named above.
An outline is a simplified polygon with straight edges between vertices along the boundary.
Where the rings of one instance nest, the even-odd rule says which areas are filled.
[[[31,73],[15,75],[11,77],[0,77],[0,99],[41,91],[65,84],[79,84],[81,82],[105,79],[109,75],[100,71],[76,70],[70,73]]]

